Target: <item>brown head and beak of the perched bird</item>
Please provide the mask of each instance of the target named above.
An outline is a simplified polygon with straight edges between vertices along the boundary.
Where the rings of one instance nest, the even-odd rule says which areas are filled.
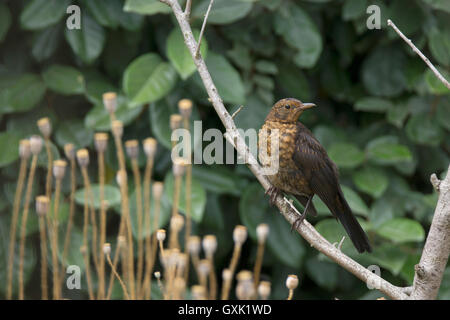
[[[303,111],[315,106],[314,103],[304,103],[294,98],[281,99],[273,105],[266,120],[296,122]]]

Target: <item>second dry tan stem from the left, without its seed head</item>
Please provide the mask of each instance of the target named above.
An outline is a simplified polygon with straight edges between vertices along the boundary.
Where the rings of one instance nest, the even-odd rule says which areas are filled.
[[[19,300],[25,298],[23,284],[23,264],[25,258],[25,239],[27,231],[28,211],[30,208],[31,190],[33,188],[34,174],[36,172],[37,155],[33,155],[31,160],[30,172],[28,174],[27,189],[25,193],[25,205],[22,214],[22,223],[20,226],[20,250],[19,250]]]

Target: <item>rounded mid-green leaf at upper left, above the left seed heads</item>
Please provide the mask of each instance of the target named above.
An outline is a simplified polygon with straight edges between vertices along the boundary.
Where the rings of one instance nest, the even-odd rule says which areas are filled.
[[[84,92],[83,75],[75,68],[54,64],[44,71],[42,77],[55,92],[67,95]]]

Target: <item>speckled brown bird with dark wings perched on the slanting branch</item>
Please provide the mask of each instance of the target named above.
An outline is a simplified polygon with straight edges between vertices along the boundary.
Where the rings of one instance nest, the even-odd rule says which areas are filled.
[[[271,205],[278,195],[286,193],[304,206],[304,212],[293,227],[302,223],[307,213],[317,215],[312,203],[317,195],[342,223],[357,251],[372,252],[366,233],[344,198],[337,166],[311,131],[299,121],[302,113],[313,107],[316,107],[314,103],[285,98],[270,109],[258,133],[258,158],[263,169],[270,169],[266,176],[272,184],[266,194]],[[275,140],[271,140],[275,137],[278,137],[278,149]]]

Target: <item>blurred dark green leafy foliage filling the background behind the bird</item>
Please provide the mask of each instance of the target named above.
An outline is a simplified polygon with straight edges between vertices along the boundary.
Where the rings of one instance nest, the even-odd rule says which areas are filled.
[[[70,4],[81,8],[81,30],[66,28]],[[191,24],[197,34],[208,4],[193,1]],[[370,4],[381,9],[380,30],[366,27]],[[338,165],[347,201],[374,247],[372,254],[359,255],[346,240],[343,251],[364,266],[380,266],[381,276],[394,284],[408,286],[437,201],[429,177],[443,178],[450,162],[450,93],[387,28],[388,18],[450,79],[450,2],[445,0],[215,0],[203,55],[228,110],[245,105],[236,118],[240,128],[259,128],[283,97],[319,106],[301,121]],[[194,101],[193,118],[203,121],[203,130],[223,130],[169,8],[156,0],[0,2],[0,283],[6,283],[19,139],[38,133],[36,121],[48,116],[55,153],[63,157],[63,145],[72,142],[90,148],[94,158],[94,132],[109,129],[101,101],[105,91],[120,94],[125,139],[159,141],[155,179],[166,183],[166,225],[173,185],[169,116],[178,112],[178,100]],[[35,195],[44,189],[45,158],[43,152]],[[143,166],[143,155],[141,160]],[[118,204],[112,142],[107,167],[108,200]],[[90,170],[96,181],[96,166]],[[228,266],[237,224],[247,226],[250,235],[238,270],[253,269],[255,229],[265,222],[271,229],[262,278],[272,282],[272,298],[286,298],[290,273],[300,278],[296,299],[380,296],[290,233],[246,166],[195,165],[193,172],[194,233],[217,235],[219,276]],[[63,221],[70,190],[65,180]],[[310,221],[329,241],[340,241],[343,228],[315,201],[320,214]],[[111,241],[118,219],[111,214],[108,222]],[[83,265],[77,230],[70,259]],[[27,296],[39,297],[34,214],[28,234]],[[4,290],[0,286],[0,296]],[[86,292],[68,295],[86,297]],[[450,299],[450,268],[439,298]]]

